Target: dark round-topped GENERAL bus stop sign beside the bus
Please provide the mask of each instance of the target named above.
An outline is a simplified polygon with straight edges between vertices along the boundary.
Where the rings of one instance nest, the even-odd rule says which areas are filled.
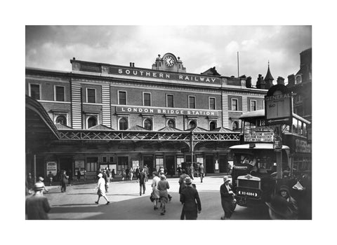
[[[291,92],[284,85],[274,85],[265,96],[265,118],[267,125],[291,123]]]

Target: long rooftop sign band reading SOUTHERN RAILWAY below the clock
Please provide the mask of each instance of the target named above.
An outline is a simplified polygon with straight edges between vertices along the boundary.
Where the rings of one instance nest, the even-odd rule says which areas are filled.
[[[110,74],[137,76],[145,78],[161,78],[166,80],[183,80],[185,82],[221,84],[220,78],[192,75],[188,73],[168,73],[155,70],[125,69],[121,67],[109,67]]]

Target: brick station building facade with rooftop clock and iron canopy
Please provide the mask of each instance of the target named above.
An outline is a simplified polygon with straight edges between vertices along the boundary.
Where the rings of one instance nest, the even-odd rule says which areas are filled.
[[[119,174],[144,165],[177,174],[186,162],[203,163],[207,173],[227,172],[229,147],[239,142],[239,116],[263,109],[267,92],[247,86],[245,77],[220,76],[214,67],[187,73],[172,53],[159,55],[152,69],[70,63],[72,71],[26,68],[26,95],[60,134],[35,147],[29,142],[27,172],[34,163],[41,176],[51,168],[95,176],[100,167]]]

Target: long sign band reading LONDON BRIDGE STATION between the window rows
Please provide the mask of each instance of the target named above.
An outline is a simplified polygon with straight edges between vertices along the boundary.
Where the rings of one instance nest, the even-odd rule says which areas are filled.
[[[164,114],[170,116],[212,116],[217,117],[218,111],[197,110],[197,109],[168,109],[161,107],[138,107],[138,106],[116,106],[117,113],[148,113]]]

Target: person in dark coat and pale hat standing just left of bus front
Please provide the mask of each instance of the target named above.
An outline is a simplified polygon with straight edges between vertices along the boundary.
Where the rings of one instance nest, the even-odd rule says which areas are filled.
[[[221,219],[230,219],[236,207],[236,200],[228,176],[223,177],[223,184],[220,186],[220,197],[221,207],[223,207],[224,211],[224,216],[221,216]]]

